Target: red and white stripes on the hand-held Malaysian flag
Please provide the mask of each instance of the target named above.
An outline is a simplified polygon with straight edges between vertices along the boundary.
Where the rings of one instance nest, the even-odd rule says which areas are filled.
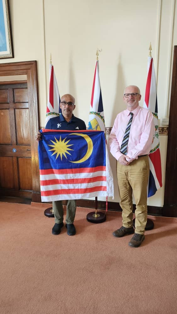
[[[40,170],[40,179],[42,202],[107,195],[105,166]]]

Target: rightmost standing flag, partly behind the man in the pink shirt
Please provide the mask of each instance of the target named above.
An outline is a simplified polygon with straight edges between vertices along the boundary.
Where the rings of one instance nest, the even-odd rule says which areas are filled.
[[[158,134],[157,88],[154,63],[152,57],[148,57],[147,73],[148,74],[144,107],[152,112],[155,125],[154,139],[149,154],[150,171],[149,171],[148,197],[150,197],[154,195],[160,187],[162,187],[162,169]]]

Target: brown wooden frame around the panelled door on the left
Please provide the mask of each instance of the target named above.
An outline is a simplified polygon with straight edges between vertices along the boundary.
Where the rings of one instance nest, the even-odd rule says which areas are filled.
[[[32,167],[32,202],[41,202],[38,144],[36,134],[40,129],[39,91],[37,61],[9,62],[0,64],[0,76],[27,76],[30,114],[31,167]]]

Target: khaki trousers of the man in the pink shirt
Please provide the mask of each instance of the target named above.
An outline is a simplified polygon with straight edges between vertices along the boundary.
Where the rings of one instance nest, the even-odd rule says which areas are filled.
[[[122,224],[133,226],[132,192],[136,202],[135,232],[143,235],[147,223],[147,184],[149,179],[148,156],[133,160],[128,166],[117,162],[117,179],[122,208]]]

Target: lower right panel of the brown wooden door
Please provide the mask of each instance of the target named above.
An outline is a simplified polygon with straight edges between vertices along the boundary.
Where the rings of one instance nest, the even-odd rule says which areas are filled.
[[[19,165],[19,188],[20,190],[32,191],[31,158],[18,158]]]

